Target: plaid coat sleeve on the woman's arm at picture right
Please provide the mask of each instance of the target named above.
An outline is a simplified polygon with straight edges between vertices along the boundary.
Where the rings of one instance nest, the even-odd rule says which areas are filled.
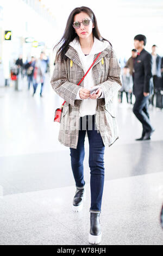
[[[105,82],[99,84],[99,86],[101,86],[104,92],[105,104],[112,99],[114,94],[118,92],[122,86],[121,66],[118,62],[115,51],[112,48],[109,60],[108,79]]]

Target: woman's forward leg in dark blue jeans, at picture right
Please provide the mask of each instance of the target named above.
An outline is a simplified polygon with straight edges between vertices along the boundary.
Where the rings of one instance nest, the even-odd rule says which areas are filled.
[[[89,167],[91,170],[91,208],[90,212],[101,212],[104,186],[104,150],[101,134],[95,130],[96,115],[92,115],[92,130],[87,130],[89,138]]]

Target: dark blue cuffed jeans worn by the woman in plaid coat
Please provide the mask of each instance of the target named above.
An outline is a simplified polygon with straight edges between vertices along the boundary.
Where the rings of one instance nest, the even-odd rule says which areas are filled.
[[[77,149],[70,148],[71,166],[77,188],[85,185],[83,161],[85,156],[84,141],[87,130],[89,139],[89,167],[91,187],[90,211],[101,212],[104,186],[104,143],[95,125],[96,115],[85,115],[79,119],[79,138]]]

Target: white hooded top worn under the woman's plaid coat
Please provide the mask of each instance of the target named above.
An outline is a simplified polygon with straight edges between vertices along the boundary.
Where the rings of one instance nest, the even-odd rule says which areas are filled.
[[[86,71],[90,68],[91,64],[93,63],[95,54],[104,51],[108,47],[109,42],[100,41],[94,36],[94,43],[93,43],[91,52],[87,56],[85,56],[85,54],[83,53],[80,43],[77,39],[74,39],[72,42],[70,42],[69,45],[71,45],[78,52],[80,62],[82,63],[84,72],[86,73]],[[95,86],[95,84],[93,83],[92,69],[91,69],[86,75],[86,77],[84,78],[84,87],[89,89],[92,86]],[[79,96],[80,89],[78,90],[78,93],[77,93],[77,97],[76,97],[77,100],[82,100]],[[103,97],[104,97],[104,93],[102,91],[102,95],[101,97],[99,97],[99,99]],[[97,113],[96,107],[97,107],[97,99],[82,100],[82,103],[80,105],[80,117],[84,117],[84,115],[96,114]]]

